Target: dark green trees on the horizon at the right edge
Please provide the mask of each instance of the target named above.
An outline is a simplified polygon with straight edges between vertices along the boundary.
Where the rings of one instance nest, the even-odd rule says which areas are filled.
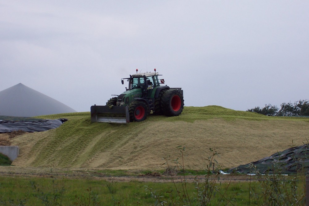
[[[282,103],[281,108],[268,104],[265,107],[248,109],[248,112],[256,112],[266,116],[309,116],[309,101],[299,100],[294,103]]]

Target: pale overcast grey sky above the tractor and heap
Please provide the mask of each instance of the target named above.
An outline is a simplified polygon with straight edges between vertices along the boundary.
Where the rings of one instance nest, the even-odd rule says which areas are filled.
[[[308,11],[309,1],[0,0],[0,91],[22,83],[90,111],[136,68],[156,68],[185,106],[279,107],[309,99]]]

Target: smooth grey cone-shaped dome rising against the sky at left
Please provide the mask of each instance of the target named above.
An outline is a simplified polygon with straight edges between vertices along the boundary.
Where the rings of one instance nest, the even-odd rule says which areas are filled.
[[[67,105],[21,83],[0,92],[0,115],[33,117],[76,112]]]

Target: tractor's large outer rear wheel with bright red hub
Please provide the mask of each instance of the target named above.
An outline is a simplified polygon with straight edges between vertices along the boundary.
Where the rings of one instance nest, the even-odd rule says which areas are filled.
[[[178,116],[184,109],[184,97],[178,89],[169,89],[162,96],[162,111],[166,116]]]

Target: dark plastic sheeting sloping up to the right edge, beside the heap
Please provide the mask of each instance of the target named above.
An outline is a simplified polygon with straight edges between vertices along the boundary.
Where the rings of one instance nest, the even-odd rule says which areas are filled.
[[[309,174],[309,144],[277,152],[270,157],[239,165],[227,173],[241,174]]]

